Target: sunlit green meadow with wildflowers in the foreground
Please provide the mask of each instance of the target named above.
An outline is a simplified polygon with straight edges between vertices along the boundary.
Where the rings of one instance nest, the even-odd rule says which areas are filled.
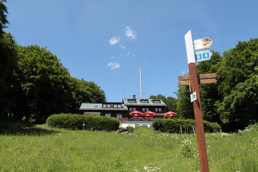
[[[196,134],[153,134],[152,128],[137,128],[138,134],[73,131],[7,122],[0,131],[0,171],[142,172],[145,166],[200,171]],[[206,134],[210,171],[258,171],[257,139],[257,131]]]

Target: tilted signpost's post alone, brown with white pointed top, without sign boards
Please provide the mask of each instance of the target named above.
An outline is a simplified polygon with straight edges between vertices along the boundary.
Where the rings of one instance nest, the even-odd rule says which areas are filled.
[[[201,107],[198,75],[197,75],[196,65],[195,65],[195,55],[193,51],[193,40],[192,40],[191,30],[189,30],[189,32],[185,34],[185,46],[186,46],[189,74],[190,74],[190,80],[191,80],[191,90],[192,92],[196,92],[196,97],[197,97],[197,99],[193,101],[193,109],[194,109],[194,118],[196,123],[197,143],[198,143],[198,151],[199,151],[199,158],[200,158],[200,169],[201,169],[201,172],[208,172],[209,167],[208,167],[207,150],[206,150],[205,135],[204,135],[204,126],[203,126],[203,120],[202,120],[202,107]]]

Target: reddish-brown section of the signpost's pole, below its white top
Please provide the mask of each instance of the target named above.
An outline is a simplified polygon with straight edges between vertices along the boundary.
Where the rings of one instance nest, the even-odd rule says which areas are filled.
[[[207,158],[207,150],[205,143],[205,135],[204,135],[204,126],[202,119],[202,107],[201,107],[201,99],[199,92],[199,84],[198,84],[198,75],[196,71],[195,63],[189,63],[189,74],[191,80],[191,89],[192,92],[196,92],[196,101],[193,101],[193,109],[194,109],[194,118],[196,124],[197,131],[197,142],[198,142],[198,151],[200,158],[200,168],[201,172],[208,172],[208,158]]]

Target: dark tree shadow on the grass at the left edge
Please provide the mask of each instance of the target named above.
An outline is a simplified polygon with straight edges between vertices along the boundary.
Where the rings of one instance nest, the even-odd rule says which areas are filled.
[[[48,130],[38,128],[34,124],[24,122],[17,119],[0,118],[0,134],[1,135],[31,135],[40,136],[46,134],[58,133],[56,130]]]

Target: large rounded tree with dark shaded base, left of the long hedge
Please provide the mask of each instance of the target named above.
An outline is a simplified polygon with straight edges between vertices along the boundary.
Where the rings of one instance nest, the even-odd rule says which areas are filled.
[[[56,55],[37,45],[19,46],[17,68],[18,99],[10,108],[14,116],[24,115],[29,120],[35,114],[36,122],[41,123],[54,113],[66,111],[70,73]],[[21,106],[25,110],[19,111]]]

